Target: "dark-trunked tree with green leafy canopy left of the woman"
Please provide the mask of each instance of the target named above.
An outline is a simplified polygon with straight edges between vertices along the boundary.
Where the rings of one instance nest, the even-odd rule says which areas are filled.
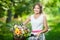
[[[1,0],[1,7],[5,11],[7,10],[7,19],[6,22],[11,21],[12,17],[12,10],[14,8],[14,18],[17,18],[18,15],[22,17],[23,14],[30,14],[32,5],[34,5],[36,2],[39,2],[39,0]]]

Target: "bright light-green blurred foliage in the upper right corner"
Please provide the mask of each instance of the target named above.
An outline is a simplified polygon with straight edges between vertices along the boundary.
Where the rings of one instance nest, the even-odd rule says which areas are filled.
[[[47,14],[52,14],[53,16],[60,15],[60,1],[59,0],[44,0],[41,1],[44,5],[44,11]],[[45,3],[44,3],[45,2]]]

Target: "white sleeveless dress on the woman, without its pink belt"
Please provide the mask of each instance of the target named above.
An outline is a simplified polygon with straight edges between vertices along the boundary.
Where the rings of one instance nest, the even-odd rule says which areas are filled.
[[[41,14],[37,19],[34,18],[34,14],[31,15],[32,31],[33,30],[43,30],[43,19],[44,19],[44,14]],[[31,34],[36,35],[37,33],[31,32]],[[39,40],[45,40],[44,33],[42,33],[40,35]]]

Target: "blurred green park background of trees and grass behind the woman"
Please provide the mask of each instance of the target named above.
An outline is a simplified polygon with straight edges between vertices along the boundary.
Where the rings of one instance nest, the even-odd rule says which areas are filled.
[[[47,16],[46,40],[60,40],[60,0],[0,0],[0,40],[13,40],[11,28],[33,14],[32,7],[37,2],[42,4]],[[29,29],[30,26],[28,23]]]

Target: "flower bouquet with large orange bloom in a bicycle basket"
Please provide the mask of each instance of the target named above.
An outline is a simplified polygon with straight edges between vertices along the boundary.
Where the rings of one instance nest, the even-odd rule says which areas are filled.
[[[15,40],[26,40],[26,38],[29,36],[30,30],[21,25],[14,25],[14,39]]]

